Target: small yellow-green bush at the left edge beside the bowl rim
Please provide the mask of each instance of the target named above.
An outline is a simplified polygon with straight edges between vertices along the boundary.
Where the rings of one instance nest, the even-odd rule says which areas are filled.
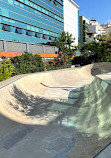
[[[0,81],[6,80],[15,72],[15,67],[9,59],[3,59],[0,62]]]

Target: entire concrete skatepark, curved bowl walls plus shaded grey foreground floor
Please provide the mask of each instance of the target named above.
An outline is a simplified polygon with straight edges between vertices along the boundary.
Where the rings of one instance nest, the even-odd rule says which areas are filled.
[[[111,63],[0,82],[0,158],[111,158]]]

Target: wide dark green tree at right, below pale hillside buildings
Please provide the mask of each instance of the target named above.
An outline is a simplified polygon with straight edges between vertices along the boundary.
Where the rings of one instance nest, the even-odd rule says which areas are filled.
[[[80,47],[81,54],[88,58],[89,63],[107,62],[111,58],[111,43],[104,38],[99,36],[98,41],[86,42]]]

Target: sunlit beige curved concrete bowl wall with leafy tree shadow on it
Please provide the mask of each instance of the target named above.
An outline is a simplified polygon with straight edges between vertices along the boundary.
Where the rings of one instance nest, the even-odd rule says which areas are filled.
[[[55,111],[53,114],[49,110],[52,104],[68,99],[71,89],[91,83],[94,77],[87,71],[91,67],[35,73],[4,83],[0,89],[0,113],[20,123],[49,123],[49,115],[51,120],[56,117]]]

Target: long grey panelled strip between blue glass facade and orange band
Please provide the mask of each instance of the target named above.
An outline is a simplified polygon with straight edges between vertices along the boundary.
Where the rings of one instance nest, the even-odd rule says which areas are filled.
[[[1,52],[20,52],[25,51],[30,53],[39,54],[55,54],[58,52],[58,48],[55,46],[43,45],[43,44],[28,44],[20,43],[16,41],[0,40],[0,51]]]

